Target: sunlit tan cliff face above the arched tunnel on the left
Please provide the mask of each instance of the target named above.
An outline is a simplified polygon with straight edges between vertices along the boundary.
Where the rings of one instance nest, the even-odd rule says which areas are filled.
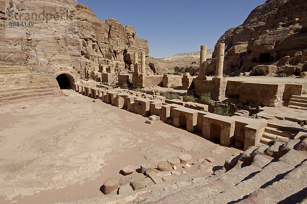
[[[69,70],[85,77],[89,70],[102,66],[128,72],[133,69],[133,53],[141,56],[143,51],[150,71],[147,40],[138,38],[133,26],[123,26],[113,18],[102,21],[75,0],[1,2],[2,65]]]

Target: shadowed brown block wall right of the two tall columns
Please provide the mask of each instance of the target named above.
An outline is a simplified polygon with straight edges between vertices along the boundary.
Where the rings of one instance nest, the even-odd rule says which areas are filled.
[[[282,103],[284,84],[227,81],[226,97],[238,98],[239,103],[255,106],[277,106]]]

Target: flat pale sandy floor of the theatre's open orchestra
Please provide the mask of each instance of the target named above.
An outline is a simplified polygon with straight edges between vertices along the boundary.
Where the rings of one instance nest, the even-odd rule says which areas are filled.
[[[0,106],[0,203],[53,203],[101,196],[126,165],[156,167],[185,150],[215,165],[240,150],[96,101],[69,96]],[[217,151],[218,150],[218,151]]]

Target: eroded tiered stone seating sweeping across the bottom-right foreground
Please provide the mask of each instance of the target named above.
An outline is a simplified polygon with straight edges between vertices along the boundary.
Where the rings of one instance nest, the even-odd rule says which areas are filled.
[[[78,203],[306,203],[307,135],[248,148],[226,161],[225,173],[159,183],[123,195]],[[214,169],[214,167],[213,167]],[[69,202],[76,203],[76,202]]]

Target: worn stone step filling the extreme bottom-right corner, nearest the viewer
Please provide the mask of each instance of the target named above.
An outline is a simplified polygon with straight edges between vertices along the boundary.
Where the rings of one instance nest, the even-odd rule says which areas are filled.
[[[303,189],[307,186],[307,161],[302,162],[283,177],[265,188],[254,191],[247,199],[238,203],[298,203],[306,195]],[[296,195],[296,196],[292,196]]]

